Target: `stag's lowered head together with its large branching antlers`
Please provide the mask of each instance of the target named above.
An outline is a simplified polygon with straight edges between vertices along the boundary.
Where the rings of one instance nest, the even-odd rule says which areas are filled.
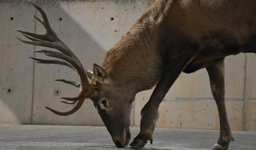
[[[46,28],[46,33],[39,35],[17,30],[29,40],[23,40],[18,37],[16,38],[27,44],[55,48],[59,52],[50,50],[35,50],[34,52],[40,52],[46,56],[59,58],[60,60],[43,60],[38,58],[32,59],[43,64],[60,64],[68,66],[79,74],[81,80],[81,84],[64,79],[56,80],[72,84],[80,88],[76,97],[60,98],[66,100],[62,102],[73,105],[69,110],[66,112],[59,112],[48,107],[46,108],[55,114],[66,116],[76,112],[82,106],[84,100],[86,98],[90,98],[93,101],[95,108],[98,110],[104,124],[106,125],[108,132],[112,136],[113,142],[117,147],[126,146],[130,141],[130,112],[135,94],[131,93],[130,90],[124,86],[124,84],[120,84],[120,82],[118,82],[118,80],[116,80],[116,78],[114,78],[114,76],[108,72],[108,70],[104,70],[102,67],[96,64],[93,66],[93,72],[85,70],[74,53],[58,38],[58,36],[52,30],[45,12],[36,4],[32,4],[42,15],[42,19],[37,18],[36,16],[34,17],[44,25]],[[88,81],[87,77],[91,79],[91,82]]]

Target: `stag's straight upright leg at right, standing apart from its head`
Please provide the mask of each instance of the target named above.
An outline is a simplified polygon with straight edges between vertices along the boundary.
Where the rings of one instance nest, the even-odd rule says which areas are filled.
[[[206,68],[209,78],[212,95],[216,101],[220,118],[220,137],[217,143],[210,150],[226,150],[231,140],[234,140],[225,107],[225,83],[224,83],[224,59],[216,62],[211,67]]]

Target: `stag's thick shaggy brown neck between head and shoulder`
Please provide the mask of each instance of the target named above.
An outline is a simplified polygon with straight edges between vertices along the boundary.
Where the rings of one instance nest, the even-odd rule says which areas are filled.
[[[156,4],[160,3],[161,4]],[[112,48],[102,64],[112,78],[136,92],[152,88],[162,75],[169,40],[166,2],[156,1],[129,32]]]

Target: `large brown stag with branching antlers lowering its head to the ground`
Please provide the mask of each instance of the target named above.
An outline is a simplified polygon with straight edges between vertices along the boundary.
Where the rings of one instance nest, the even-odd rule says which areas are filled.
[[[72,107],[59,112],[66,116],[76,112],[86,98],[93,101],[116,147],[130,142],[132,102],[136,93],[155,86],[141,110],[140,132],[130,144],[140,149],[152,144],[158,108],[164,96],[181,74],[206,68],[210,88],[216,101],[220,136],[210,150],[226,150],[234,140],[225,106],[224,58],[238,53],[256,53],[255,0],[156,0],[122,39],[107,52],[102,65],[86,70],[74,53],[52,30],[46,13],[34,4],[46,28],[45,34],[21,32],[28,38],[21,42],[58,50],[35,50],[58,59],[32,58],[42,64],[60,64],[76,71],[81,83],[60,79],[78,87],[76,97],[64,99]],[[89,82],[89,79],[91,80]]]

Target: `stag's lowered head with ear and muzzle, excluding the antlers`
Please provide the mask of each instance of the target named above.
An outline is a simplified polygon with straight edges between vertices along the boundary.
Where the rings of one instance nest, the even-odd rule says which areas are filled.
[[[87,71],[87,74],[90,72]],[[117,147],[126,146],[130,141],[130,114],[135,95],[129,93],[120,82],[97,64],[93,66],[90,84],[93,87],[90,99],[112,136],[113,142]]]

